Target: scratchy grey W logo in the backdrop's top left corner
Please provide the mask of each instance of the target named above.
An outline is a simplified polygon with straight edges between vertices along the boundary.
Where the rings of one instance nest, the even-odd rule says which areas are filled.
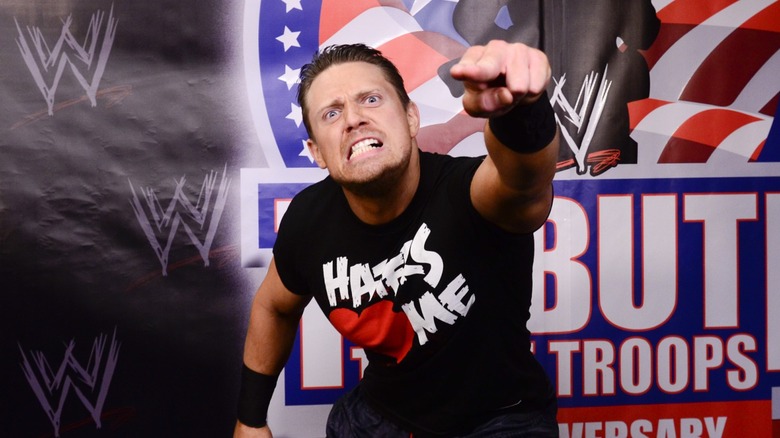
[[[32,73],[35,84],[38,85],[46,100],[49,115],[54,114],[54,94],[67,66],[70,66],[79,84],[86,91],[92,106],[97,105],[98,85],[103,77],[103,72],[105,72],[108,55],[111,53],[111,46],[116,35],[117,21],[114,19],[113,5],[105,23],[105,30],[103,28],[106,21],[105,13],[98,11],[92,15],[83,45],[79,44],[70,32],[72,21],[72,17],[68,16],[63,22],[60,37],[52,49],[49,49],[48,44],[46,44],[40,28],[27,27],[28,41],[19,22],[16,21],[16,29],[19,31],[16,43],[22,52],[27,68]],[[87,80],[87,76],[90,75],[91,79]],[[44,76],[48,77],[50,83],[47,83]]]

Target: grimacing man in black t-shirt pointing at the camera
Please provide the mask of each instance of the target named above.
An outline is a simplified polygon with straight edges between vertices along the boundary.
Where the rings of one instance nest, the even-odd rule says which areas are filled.
[[[558,136],[546,56],[491,41],[452,67],[487,118],[488,155],[423,153],[417,106],[363,45],[304,66],[308,147],[329,177],[290,204],[252,305],[236,437],[270,437],[268,404],[313,297],[369,359],[328,437],[557,436],[530,352],[532,233],[546,220]]]

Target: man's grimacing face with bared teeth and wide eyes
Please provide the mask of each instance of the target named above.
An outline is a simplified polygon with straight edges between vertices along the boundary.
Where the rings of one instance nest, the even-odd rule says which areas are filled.
[[[312,82],[306,99],[312,156],[345,189],[381,194],[414,171],[408,164],[417,107],[404,109],[379,67],[333,65]]]

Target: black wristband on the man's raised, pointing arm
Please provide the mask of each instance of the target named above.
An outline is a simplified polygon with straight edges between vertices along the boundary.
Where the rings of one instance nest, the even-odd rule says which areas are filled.
[[[493,135],[507,148],[520,153],[537,152],[555,137],[558,124],[547,91],[530,105],[518,105],[488,120]]]

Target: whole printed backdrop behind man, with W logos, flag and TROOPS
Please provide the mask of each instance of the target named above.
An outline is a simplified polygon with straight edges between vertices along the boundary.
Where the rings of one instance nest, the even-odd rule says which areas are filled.
[[[529,328],[561,436],[780,436],[767,0],[2,2],[0,435],[229,436],[275,228],[323,176],[297,69],[376,46],[421,147],[476,155],[482,122],[445,73],[491,38],[553,66]],[[275,434],[324,436],[365,360],[307,309]]]

